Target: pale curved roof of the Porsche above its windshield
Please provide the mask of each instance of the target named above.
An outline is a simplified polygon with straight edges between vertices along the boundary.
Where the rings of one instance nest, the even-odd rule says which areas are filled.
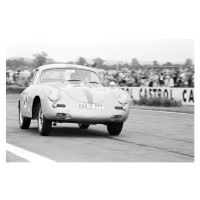
[[[55,69],[55,68],[63,68],[63,69],[67,69],[67,68],[75,68],[75,69],[85,69],[85,70],[91,70],[96,72],[95,69],[92,69],[90,67],[86,67],[83,65],[75,65],[75,64],[49,64],[49,65],[42,65],[40,67],[37,68],[37,70],[43,71],[46,69]]]

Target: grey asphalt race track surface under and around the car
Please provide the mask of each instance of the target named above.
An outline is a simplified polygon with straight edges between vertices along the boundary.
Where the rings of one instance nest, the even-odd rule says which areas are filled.
[[[19,128],[17,101],[7,99],[6,140],[56,162],[193,162],[194,115],[131,110],[119,136],[104,125],[58,124],[42,137],[35,120]],[[7,151],[7,162],[25,161]]]

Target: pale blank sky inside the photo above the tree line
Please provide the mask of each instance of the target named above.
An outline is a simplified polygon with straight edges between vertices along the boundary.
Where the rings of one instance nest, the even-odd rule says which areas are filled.
[[[131,61],[137,58],[141,62],[158,61],[185,62],[194,60],[194,40],[192,39],[101,39],[79,41],[72,38],[67,41],[21,41],[7,45],[6,56],[32,58],[34,53],[45,51],[55,61],[74,61],[79,57],[104,60]]]

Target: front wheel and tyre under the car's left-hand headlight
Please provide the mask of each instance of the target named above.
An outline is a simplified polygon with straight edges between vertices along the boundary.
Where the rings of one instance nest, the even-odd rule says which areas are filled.
[[[52,121],[44,117],[40,104],[38,111],[38,131],[42,136],[48,136],[51,132]]]

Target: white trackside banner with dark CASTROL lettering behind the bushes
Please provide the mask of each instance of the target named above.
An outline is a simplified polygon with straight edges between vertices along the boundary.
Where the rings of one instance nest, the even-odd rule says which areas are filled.
[[[139,100],[141,97],[161,97],[194,105],[194,88],[122,87],[121,89],[127,91],[132,100]]]

